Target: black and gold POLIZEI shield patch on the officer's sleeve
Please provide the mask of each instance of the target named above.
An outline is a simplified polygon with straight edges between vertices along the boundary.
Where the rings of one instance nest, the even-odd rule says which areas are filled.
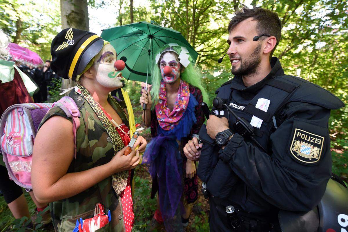
[[[306,164],[315,164],[323,151],[324,137],[295,128],[290,146],[293,157]]]

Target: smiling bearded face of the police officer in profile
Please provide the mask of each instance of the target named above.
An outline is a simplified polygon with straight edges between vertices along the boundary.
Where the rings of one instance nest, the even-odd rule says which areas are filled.
[[[253,41],[256,32],[256,21],[252,18],[240,22],[228,37],[227,55],[231,61],[231,72],[234,75],[252,75],[258,72],[261,62],[261,42]]]

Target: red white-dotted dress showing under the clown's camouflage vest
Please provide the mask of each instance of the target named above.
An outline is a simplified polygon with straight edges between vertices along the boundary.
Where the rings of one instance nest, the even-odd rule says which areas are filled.
[[[128,133],[129,129],[122,123],[119,125],[122,130]],[[121,136],[122,142],[127,146],[130,142],[130,138],[128,134],[124,134],[118,127],[116,127],[118,134]],[[130,189],[130,170],[128,170],[128,180],[126,189],[123,190],[120,194],[121,203],[122,203],[122,212],[123,212],[123,220],[125,223],[126,232],[132,231],[134,224],[134,212],[133,212],[133,200],[132,200],[132,191]]]

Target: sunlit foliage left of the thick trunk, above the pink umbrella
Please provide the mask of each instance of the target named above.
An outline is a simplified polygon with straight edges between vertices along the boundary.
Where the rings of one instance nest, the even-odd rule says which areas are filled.
[[[45,61],[61,28],[58,0],[0,0],[0,28],[11,42],[35,51]]]

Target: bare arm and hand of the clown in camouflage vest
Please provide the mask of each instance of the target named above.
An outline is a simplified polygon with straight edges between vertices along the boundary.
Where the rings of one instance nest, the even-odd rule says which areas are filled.
[[[125,149],[122,149],[109,163],[77,173],[67,173],[74,158],[73,139],[72,123],[60,116],[48,119],[38,131],[33,147],[31,180],[39,202],[72,197],[113,173],[135,168],[140,161],[138,150],[133,149],[125,156]]]

